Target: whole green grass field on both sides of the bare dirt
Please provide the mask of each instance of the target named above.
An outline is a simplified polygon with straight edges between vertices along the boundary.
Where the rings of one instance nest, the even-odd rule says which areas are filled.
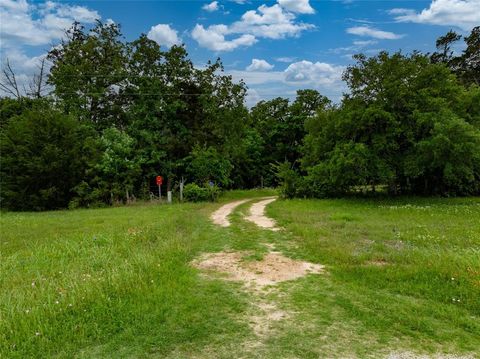
[[[0,357],[479,355],[480,198],[279,200],[280,232],[219,205],[2,213]],[[326,270],[260,294],[290,313],[260,340],[258,294],[190,263],[266,244]]]

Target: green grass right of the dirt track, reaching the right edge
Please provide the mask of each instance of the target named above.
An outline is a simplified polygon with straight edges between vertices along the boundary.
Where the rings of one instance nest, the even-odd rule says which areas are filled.
[[[272,348],[480,355],[478,198],[292,200],[269,214],[290,233],[285,252],[329,272],[290,288],[285,303],[309,330],[287,328]],[[301,346],[316,338],[321,348]]]

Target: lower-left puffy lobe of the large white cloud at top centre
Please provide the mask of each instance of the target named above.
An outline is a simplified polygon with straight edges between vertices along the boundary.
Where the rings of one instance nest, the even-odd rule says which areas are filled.
[[[226,25],[212,25],[204,28],[202,25],[196,25],[192,31],[192,37],[202,47],[213,51],[232,51],[237,47],[251,46],[257,40],[253,35],[244,34],[233,40],[226,40],[225,35],[229,33]]]

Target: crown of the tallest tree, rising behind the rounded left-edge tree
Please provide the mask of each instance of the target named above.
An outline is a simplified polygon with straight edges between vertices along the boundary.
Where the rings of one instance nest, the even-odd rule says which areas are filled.
[[[48,59],[52,62],[48,83],[65,113],[92,123],[99,132],[126,126],[122,95],[126,48],[119,25],[97,21],[87,32],[74,23]]]

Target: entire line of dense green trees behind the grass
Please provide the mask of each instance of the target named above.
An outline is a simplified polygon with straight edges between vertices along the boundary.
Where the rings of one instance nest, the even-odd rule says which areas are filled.
[[[219,59],[197,68],[183,46],[127,42],[117,24],[74,24],[32,91],[21,94],[4,70],[13,91],[0,99],[1,206],[146,199],[157,175],[174,191],[186,181],[280,185],[287,197],[479,194],[479,38],[477,27],[460,55],[453,32],[434,54],[357,55],[340,104],[300,90],[248,109],[245,83]]]

